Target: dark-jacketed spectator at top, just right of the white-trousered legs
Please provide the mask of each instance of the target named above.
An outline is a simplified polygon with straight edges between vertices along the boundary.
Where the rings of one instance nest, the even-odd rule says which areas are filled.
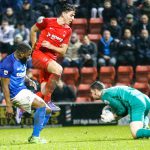
[[[120,11],[116,7],[112,7],[111,1],[104,1],[104,10],[102,11],[104,23],[109,23],[111,18],[120,20],[120,15]]]

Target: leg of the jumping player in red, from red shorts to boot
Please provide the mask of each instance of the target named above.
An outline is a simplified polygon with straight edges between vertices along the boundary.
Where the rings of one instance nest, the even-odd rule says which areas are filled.
[[[41,93],[44,95],[45,101],[51,101],[51,93],[54,91],[56,82],[61,76],[62,67],[41,51],[35,50],[32,59],[33,66],[41,69],[42,72],[44,71],[44,74],[46,75],[46,78],[44,75],[44,80],[41,82]],[[52,102],[50,102],[49,105],[54,111],[60,111],[60,108],[55,106]]]

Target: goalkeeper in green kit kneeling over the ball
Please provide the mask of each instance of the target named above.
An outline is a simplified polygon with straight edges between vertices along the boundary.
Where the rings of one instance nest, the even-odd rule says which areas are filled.
[[[109,104],[113,111],[111,121],[130,115],[130,129],[133,138],[150,137],[150,129],[145,128],[150,110],[150,99],[147,95],[128,86],[114,86],[105,89],[104,84],[99,81],[92,83],[91,95],[93,99],[100,99]],[[101,116],[103,120],[108,120],[107,115]]]

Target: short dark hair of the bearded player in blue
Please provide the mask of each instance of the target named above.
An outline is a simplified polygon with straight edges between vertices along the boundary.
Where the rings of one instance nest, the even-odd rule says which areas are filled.
[[[26,53],[30,50],[32,50],[31,46],[28,43],[21,42],[16,47],[16,52]]]

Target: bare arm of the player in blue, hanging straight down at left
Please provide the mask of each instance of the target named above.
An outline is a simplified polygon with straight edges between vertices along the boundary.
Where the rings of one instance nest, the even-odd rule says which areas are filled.
[[[5,101],[6,101],[6,115],[9,118],[9,117],[12,117],[13,115],[13,108],[12,108],[12,103],[10,100],[10,91],[9,91],[10,79],[1,78],[1,83],[2,83],[2,90],[3,90]]]

